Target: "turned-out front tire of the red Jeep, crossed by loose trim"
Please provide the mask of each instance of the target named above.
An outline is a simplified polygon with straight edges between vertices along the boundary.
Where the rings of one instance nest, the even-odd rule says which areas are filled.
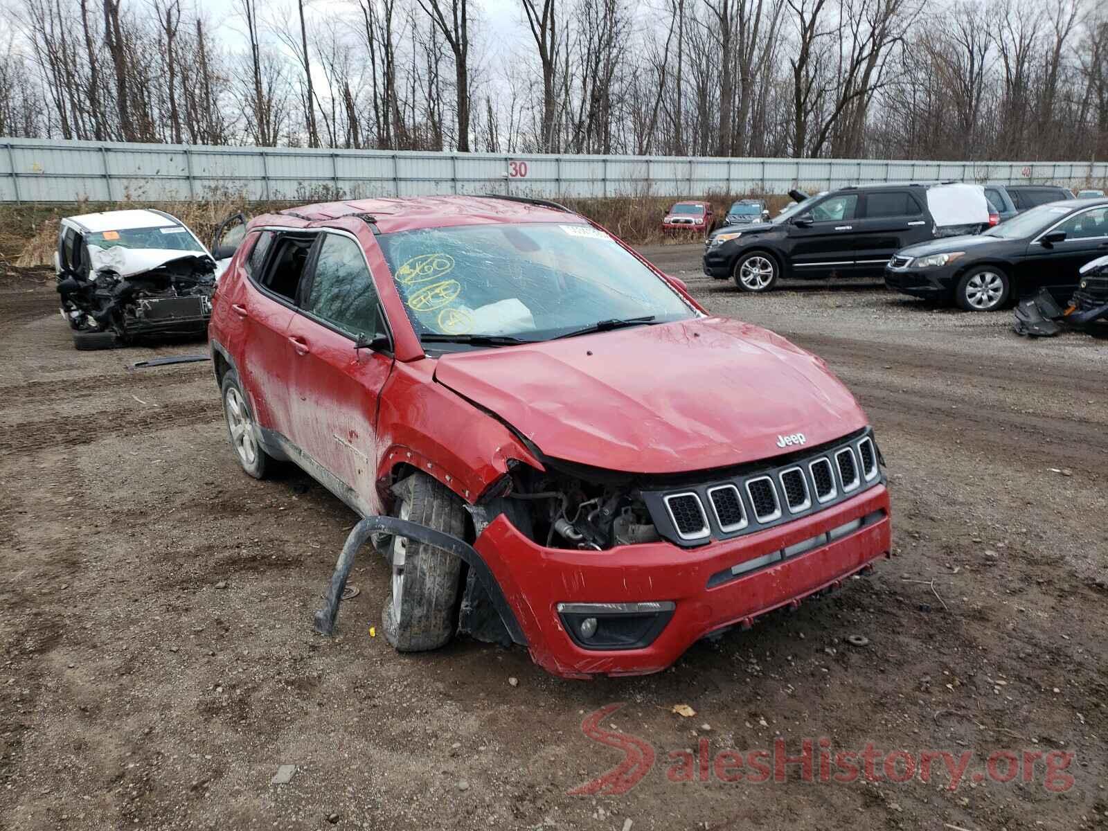
[[[413,473],[397,489],[393,515],[462,537],[465,509],[441,482]],[[431,545],[393,537],[392,586],[381,614],[384,638],[401,653],[438,649],[458,628],[462,561]]]

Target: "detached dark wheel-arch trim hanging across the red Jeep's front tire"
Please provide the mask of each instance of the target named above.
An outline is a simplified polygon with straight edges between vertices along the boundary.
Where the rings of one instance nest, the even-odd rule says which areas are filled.
[[[350,576],[350,570],[353,567],[355,557],[361,547],[369,542],[370,535],[378,533],[403,536],[417,543],[433,545],[435,548],[459,557],[476,575],[476,578],[488,593],[493,607],[500,615],[501,620],[503,620],[504,627],[507,629],[507,634],[512,640],[516,644],[526,645],[527,639],[524,637],[511,606],[507,605],[504,593],[500,591],[500,584],[496,583],[496,578],[492,575],[488,564],[472,545],[459,540],[456,536],[444,534],[441,531],[429,529],[416,522],[400,520],[396,516],[367,516],[353,526],[346,543],[342,545],[342,553],[339,554],[339,560],[335,564],[335,573],[331,575],[331,582],[324,596],[324,607],[316,612],[316,632],[321,635],[335,634],[335,622],[339,614],[339,602],[342,598],[342,589],[346,587],[347,577]],[[410,558],[413,554],[418,554],[418,552],[409,552],[408,557]]]

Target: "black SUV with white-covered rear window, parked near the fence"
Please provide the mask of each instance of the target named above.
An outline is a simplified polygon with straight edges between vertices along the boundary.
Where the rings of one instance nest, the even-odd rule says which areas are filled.
[[[842,187],[807,197],[766,223],[722,228],[708,239],[704,273],[746,291],[769,291],[781,276],[878,277],[901,248],[936,237],[927,209],[933,184]],[[953,183],[941,183],[950,185]],[[976,234],[987,223],[947,228]]]

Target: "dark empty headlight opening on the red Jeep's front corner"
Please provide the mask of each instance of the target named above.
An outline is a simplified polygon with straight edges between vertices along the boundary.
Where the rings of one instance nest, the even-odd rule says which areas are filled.
[[[661,538],[630,478],[591,481],[587,474],[517,465],[506,495],[526,504],[533,538],[547,547],[602,551]]]

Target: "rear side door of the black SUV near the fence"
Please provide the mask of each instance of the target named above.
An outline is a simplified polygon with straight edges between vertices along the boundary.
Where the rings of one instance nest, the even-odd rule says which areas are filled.
[[[909,188],[866,193],[854,223],[855,273],[883,274],[893,254],[931,239],[929,226],[920,198]]]

